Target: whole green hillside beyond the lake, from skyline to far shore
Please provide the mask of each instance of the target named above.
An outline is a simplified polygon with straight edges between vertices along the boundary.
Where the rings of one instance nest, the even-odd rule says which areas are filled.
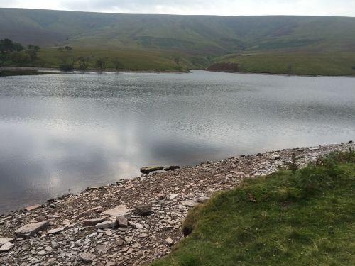
[[[355,18],[0,9],[0,25],[0,39],[42,47],[40,60],[31,64],[35,66],[58,66],[60,54],[55,48],[70,45],[73,56],[90,57],[90,65],[103,57],[110,67],[111,58],[119,57],[125,69],[204,69],[214,62],[237,62],[247,72],[278,73],[278,67],[265,69],[258,65],[261,57],[255,60],[255,56],[239,56],[253,54],[272,59],[277,53],[285,55],[278,56],[281,65],[299,64],[300,60],[290,62],[293,60],[289,55],[314,55],[300,62],[312,63],[310,67],[296,67],[301,70],[293,74],[355,74]],[[312,65],[322,67],[313,70]]]

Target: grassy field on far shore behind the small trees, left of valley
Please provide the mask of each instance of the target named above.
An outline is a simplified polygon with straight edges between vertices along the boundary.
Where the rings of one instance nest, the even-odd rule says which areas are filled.
[[[182,71],[204,68],[206,59],[198,55],[187,55],[182,52],[167,52],[161,50],[141,50],[130,48],[74,46],[72,52],[59,52],[58,48],[43,48],[38,52],[38,60],[21,66],[54,67],[59,68],[63,60],[70,57],[87,57],[90,69],[95,68],[97,60],[104,60],[108,70],[114,69],[114,61],[121,63],[121,70],[156,70],[156,71]],[[179,61],[176,62],[176,58]],[[6,62],[5,65],[15,65]],[[19,65],[19,66],[20,66]],[[79,62],[75,62],[79,68]]]

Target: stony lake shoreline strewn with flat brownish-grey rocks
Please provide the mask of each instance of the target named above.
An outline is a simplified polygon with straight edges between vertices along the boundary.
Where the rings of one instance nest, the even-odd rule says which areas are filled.
[[[246,177],[307,165],[352,142],[232,157],[88,188],[0,216],[0,265],[146,265],[183,238],[187,211]]]

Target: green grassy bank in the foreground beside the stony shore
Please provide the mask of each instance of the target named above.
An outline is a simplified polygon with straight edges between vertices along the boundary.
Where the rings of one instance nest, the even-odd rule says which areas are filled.
[[[192,209],[165,265],[355,265],[355,153],[246,179]]]

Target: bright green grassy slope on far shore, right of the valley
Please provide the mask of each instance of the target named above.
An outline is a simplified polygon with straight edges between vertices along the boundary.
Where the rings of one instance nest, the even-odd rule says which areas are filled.
[[[295,75],[355,75],[355,52],[254,52],[219,57],[239,72]]]

